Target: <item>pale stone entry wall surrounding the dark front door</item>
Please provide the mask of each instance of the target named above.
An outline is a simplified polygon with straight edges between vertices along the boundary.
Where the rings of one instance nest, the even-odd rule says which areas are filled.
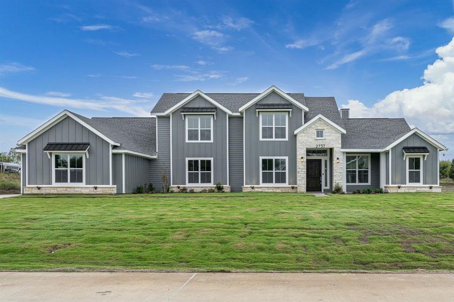
[[[315,129],[324,129],[325,138],[317,139]],[[333,170],[333,178],[331,182],[333,188],[336,183],[343,185],[344,159],[341,152],[341,133],[327,122],[318,119],[296,134],[296,184],[298,192],[306,192],[306,149],[314,149],[317,144],[325,144],[325,148],[332,148],[331,169]],[[302,163],[301,157],[304,158]],[[336,163],[337,158],[339,158],[339,163]]]

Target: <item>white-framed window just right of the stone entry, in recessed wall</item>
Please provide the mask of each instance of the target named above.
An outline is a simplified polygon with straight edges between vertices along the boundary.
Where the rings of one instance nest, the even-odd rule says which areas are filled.
[[[370,185],[370,155],[346,156],[347,184]]]

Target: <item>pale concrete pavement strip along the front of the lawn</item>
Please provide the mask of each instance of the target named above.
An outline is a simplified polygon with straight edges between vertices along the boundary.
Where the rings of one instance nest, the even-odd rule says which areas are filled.
[[[1,301],[452,301],[450,274],[0,272]]]

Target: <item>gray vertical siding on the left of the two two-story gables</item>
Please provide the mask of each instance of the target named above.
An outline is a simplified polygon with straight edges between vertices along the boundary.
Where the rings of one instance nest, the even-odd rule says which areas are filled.
[[[186,107],[212,107],[201,96]],[[186,121],[181,108],[172,113],[172,185],[186,184],[186,158],[213,158],[213,184],[227,184],[227,114],[218,109],[213,119],[213,142],[185,142]],[[160,146],[158,146],[160,148]],[[159,152],[158,152],[159,154]]]

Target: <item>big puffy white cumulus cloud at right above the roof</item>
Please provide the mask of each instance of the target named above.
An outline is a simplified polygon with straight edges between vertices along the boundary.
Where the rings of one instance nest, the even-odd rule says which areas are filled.
[[[342,107],[352,117],[403,116],[423,131],[454,134],[454,38],[436,53],[439,59],[424,70],[423,85],[388,94],[370,108],[358,100]]]

